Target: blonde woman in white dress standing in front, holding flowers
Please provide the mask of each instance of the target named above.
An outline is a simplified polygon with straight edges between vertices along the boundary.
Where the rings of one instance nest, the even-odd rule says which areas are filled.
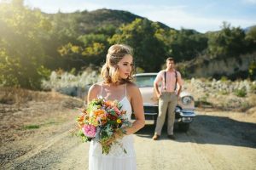
[[[126,111],[125,118],[131,121],[133,112],[136,121],[131,127],[125,128],[125,133],[114,133],[113,143],[108,155],[102,154],[102,145],[96,140],[90,142],[89,170],[134,170],[136,155],[133,146],[132,133],[136,133],[145,124],[143,99],[137,86],[131,82],[133,71],[132,50],[123,44],[115,44],[108,49],[105,65],[102,67],[103,82],[92,85],[89,89],[87,103],[92,99],[104,98],[118,100]],[[112,142],[109,139],[108,142]],[[124,152],[124,149],[126,152]]]

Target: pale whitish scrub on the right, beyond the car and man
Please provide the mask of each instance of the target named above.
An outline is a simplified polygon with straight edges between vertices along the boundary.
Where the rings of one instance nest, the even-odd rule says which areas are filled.
[[[255,81],[231,82],[192,78],[184,83],[183,89],[190,92],[195,101],[203,101],[213,107],[246,111],[256,105]]]

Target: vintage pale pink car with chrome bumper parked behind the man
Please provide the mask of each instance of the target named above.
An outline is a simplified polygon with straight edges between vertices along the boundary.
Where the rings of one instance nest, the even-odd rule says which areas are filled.
[[[158,116],[158,99],[154,93],[154,79],[157,73],[140,73],[133,77],[143,96],[143,107],[146,119],[154,120]],[[183,91],[175,109],[175,127],[183,132],[189,130],[189,124],[195,117],[195,101],[191,94]]]

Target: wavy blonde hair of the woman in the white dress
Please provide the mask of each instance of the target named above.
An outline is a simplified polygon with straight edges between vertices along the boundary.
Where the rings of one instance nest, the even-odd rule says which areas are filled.
[[[125,80],[119,80],[118,63],[125,55],[132,56],[132,48],[125,44],[114,44],[108,48],[106,63],[102,66],[102,77],[106,83],[117,83],[119,81],[131,82],[134,68],[131,69],[131,74]]]

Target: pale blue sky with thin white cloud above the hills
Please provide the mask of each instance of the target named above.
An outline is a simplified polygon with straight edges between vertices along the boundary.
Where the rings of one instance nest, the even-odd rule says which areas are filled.
[[[25,0],[25,4],[46,13],[125,10],[177,30],[202,33],[220,30],[224,21],[241,28],[256,25],[256,0]]]

